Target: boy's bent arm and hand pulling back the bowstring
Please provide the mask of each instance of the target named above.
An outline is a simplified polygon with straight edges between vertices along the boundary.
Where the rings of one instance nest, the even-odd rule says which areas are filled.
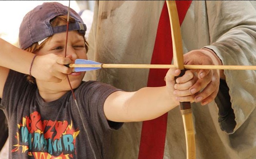
[[[1,38],[0,46],[0,98],[2,98],[9,69],[29,75],[35,54],[19,49]],[[45,81],[60,82],[65,79],[67,73],[72,71],[72,68],[64,66],[69,63],[71,63],[69,58],[54,54],[37,56],[31,68],[31,75]]]

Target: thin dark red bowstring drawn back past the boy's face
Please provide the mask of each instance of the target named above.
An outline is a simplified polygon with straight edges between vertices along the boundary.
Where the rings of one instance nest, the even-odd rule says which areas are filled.
[[[70,12],[70,0],[68,1],[68,17],[67,17],[67,30],[66,30],[66,43],[65,43],[65,44],[66,44],[66,45],[65,45],[65,57],[67,56],[69,12]],[[78,103],[77,103],[77,101],[76,101],[76,96],[75,96],[74,90],[73,90],[73,88],[72,88],[72,86],[71,86],[71,83],[70,83],[70,80],[69,80],[68,75],[67,75],[67,79],[68,79],[68,84],[69,84],[69,86],[70,86],[70,88],[71,88],[71,92],[72,92],[72,95],[73,95],[73,98],[74,98],[74,101],[75,101],[76,108],[78,109],[79,116],[80,116],[80,118],[81,118],[81,120],[82,120],[83,128],[84,128],[84,131],[85,131],[85,133],[86,133],[87,139],[88,139],[88,141],[89,141],[89,145],[90,145],[90,147],[91,147],[91,151],[93,152],[94,158],[96,159],[95,151],[94,151],[93,146],[92,146],[92,144],[91,144],[91,139],[90,139],[90,137],[89,137],[89,135],[88,135],[88,131],[87,131],[85,125],[84,125],[84,120],[83,120],[83,117],[82,117],[80,108],[79,108],[79,106],[78,106]]]

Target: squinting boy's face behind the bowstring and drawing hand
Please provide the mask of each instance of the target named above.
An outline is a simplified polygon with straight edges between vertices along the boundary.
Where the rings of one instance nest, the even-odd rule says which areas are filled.
[[[40,49],[36,54],[56,54],[58,56],[65,56],[65,43],[66,43],[66,33],[57,33],[52,36],[48,41],[46,41],[44,47]],[[84,38],[78,33],[78,31],[68,32],[68,42],[67,42],[67,57],[71,58],[72,63],[75,62],[77,58],[86,59],[86,49]],[[84,77],[85,72],[73,72],[68,75],[71,82],[72,88],[77,88]],[[39,83],[38,83],[39,82]],[[70,90],[67,79],[62,80],[60,83],[42,82],[37,81],[37,84],[43,84],[44,87],[50,87],[54,90]]]

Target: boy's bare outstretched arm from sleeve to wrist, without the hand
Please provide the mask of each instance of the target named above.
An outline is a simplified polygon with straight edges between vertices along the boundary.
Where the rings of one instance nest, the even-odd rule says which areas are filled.
[[[167,96],[166,87],[145,87],[136,92],[117,91],[104,103],[107,120],[133,122],[151,120],[178,106],[174,96]]]

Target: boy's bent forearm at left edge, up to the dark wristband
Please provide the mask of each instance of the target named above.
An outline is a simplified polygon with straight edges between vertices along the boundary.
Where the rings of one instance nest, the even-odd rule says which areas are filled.
[[[0,38],[0,66],[29,74],[33,53],[19,49]]]

